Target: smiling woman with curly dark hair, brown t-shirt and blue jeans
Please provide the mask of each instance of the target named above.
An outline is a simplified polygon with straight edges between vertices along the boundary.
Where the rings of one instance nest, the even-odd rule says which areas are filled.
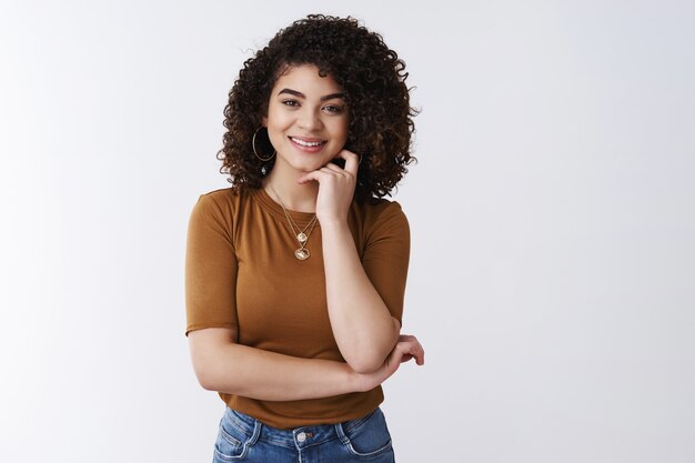
[[[219,153],[230,189],[188,235],[187,335],[226,404],[214,461],[393,462],[379,404],[401,362],[410,233],[383,199],[413,160],[404,63],[351,18],[310,16],[249,59]]]

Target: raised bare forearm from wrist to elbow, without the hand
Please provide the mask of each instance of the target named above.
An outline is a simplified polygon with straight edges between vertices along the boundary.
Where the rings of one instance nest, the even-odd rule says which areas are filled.
[[[364,272],[348,222],[322,222],[321,233],[333,335],[352,369],[375,371],[393,350],[400,323]]]

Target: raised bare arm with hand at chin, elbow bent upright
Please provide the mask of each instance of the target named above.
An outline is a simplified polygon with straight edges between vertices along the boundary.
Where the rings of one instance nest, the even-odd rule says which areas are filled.
[[[313,180],[320,184],[316,217],[321,223],[333,335],[350,366],[356,372],[367,373],[377,370],[393,350],[401,324],[370,281],[348,225],[359,158],[346,150],[341,151],[340,157],[345,159],[344,169],[329,163],[304,174],[299,181]]]

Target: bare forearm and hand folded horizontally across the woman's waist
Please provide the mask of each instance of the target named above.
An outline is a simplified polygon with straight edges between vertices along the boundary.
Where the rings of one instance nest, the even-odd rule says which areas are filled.
[[[209,328],[189,333],[193,369],[200,384],[210,391],[270,401],[319,399],[376,387],[424,352],[413,336],[402,340],[380,369],[370,374],[330,360],[300,359],[234,343],[231,329]]]

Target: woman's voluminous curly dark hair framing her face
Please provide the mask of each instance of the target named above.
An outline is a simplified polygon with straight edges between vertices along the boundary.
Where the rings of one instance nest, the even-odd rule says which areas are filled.
[[[248,59],[229,92],[224,108],[220,172],[232,189],[261,188],[274,159],[261,161],[251,145],[268,113],[276,79],[292,66],[313,64],[342,87],[350,108],[345,148],[362,157],[355,199],[391,195],[391,190],[416,161],[411,155],[412,118],[405,63],[383,38],[354,18],[310,14],[280,30],[265,48]]]

